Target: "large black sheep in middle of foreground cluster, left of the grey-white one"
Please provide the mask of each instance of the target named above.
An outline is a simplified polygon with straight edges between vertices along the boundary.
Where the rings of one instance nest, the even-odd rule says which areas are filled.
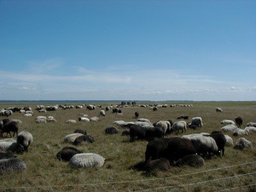
[[[186,138],[172,138],[166,149],[166,155],[170,162],[177,161],[178,159],[196,154],[196,148],[193,146],[191,141]]]

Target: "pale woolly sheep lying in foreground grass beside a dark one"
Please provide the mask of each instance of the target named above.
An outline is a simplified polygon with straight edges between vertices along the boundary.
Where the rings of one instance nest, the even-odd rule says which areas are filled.
[[[102,167],[105,159],[98,154],[76,154],[74,155],[68,166],[71,168],[94,168]]]

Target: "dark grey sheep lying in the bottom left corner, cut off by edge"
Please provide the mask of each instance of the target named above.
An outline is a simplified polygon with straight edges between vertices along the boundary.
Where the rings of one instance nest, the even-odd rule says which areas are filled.
[[[12,159],[1,159],[0,160],[0,174],[3,173],[13,173],[13,172],[21,172],[26,169],[26,164],[24,161],[18,158]]]

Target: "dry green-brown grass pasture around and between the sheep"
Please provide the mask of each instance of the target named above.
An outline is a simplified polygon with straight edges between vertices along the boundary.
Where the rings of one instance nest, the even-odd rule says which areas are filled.
[[[21,113],[13,113],[9,117],[22,121],[22,125],[19,125],[19,132],[24,130],[31,132],[33,143],[28,152],[18,155],[26,163],[27,168],[24,172],[0,175],[1,191],[256,190],[255,132],[243,136],[252,141],[253,148],[236,150],[233,147],[225,147],[224,157],[213,156],[212,159],[206,159],[205,166],[201,168],[172,167],[167,172],[154,172],[151,175],[136,169],[135,166],[141,161],[145,161],[147,141],[135,140],[131,143],[128,136],[121,135],[122,128],[119,129],[119,134],[106,135],[104,132],[104,129],[113,126],[113,122],[116,120],[136,121],[136,118],[134,118],[135,111],[140,113],[139,118],[148,118],[150,122],[156,122],[157,120],[172,120],[175,122],[177,121],[176,118],[182,114],[189,115],[190,118],[201,116],[204,127],[197,130],[187,129],[186,134],[219,131],[223,127],[220,124],[222,120],[234,120],[236,116],[243,116],[242,129],[244,129],[248,122],[256,122],[256,102],[189,102],[188,104],[193,104],[191,108],[170,108],[170,104],[179,104],[178,102],[161,103],[168,104],[169,107],[159,108],[158,111],[129,106],[121,108],[122,116],[116,115],[112,111],[106,111],[106,116],[100,117],[99,122],[78,121],[79,113],[87,114],[89,118],[99,116],[100,108],[98,107],[92,111],[86,110],[86,107],[84,107],[70,110],[59,108],[57,111],[38,113],[35,110],[38,104],[0,104],[0,109],[13,106],[30,106],[34,112],[32,117],[25,117]],[[97,103],[92,104],[97,105]],[[101,105],[105,109],[109,104]],[[47,106],[47,104],[44,104],[44,106]],[[222,108],[223,112],[216,113],[216,107]],[[54,116],[58,122],[36,124],[35,118],[38,115]],[[66,120],[69,119],[77,120],[77,124],[66,124]],[[189,122],[189,120],[186,120],[186,122]],[[64,137],[73,133],[75,129],[83,128],[94,137],[95,142],[84,143],[77,148],[83,150],[83,152],[93,152],[106,158],[106,163],[102,168],[74,170],[68,167],[68,162],[56,159],[56,154],[61,148],[72,146],[64,143]],[[234,143],[239,138],[232,136],[231,132],[225,134],[231,136]],[[180,133],[179,136],[182,136],[182,134]],[[241,165],[235,166],[237,164]],[[227,166],[231,167],[227,168]],[[220,169],[218,170],[218,168]]]

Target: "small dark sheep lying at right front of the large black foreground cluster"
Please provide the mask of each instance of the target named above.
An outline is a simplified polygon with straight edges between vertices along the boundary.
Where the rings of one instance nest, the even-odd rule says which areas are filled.
[[[197,154],[191,154],[179,159],[174,164],[175,166],[183,166],[185,164],[188,164],[189,166],[204,166],[205,163],[201,156],[198,156]]]

